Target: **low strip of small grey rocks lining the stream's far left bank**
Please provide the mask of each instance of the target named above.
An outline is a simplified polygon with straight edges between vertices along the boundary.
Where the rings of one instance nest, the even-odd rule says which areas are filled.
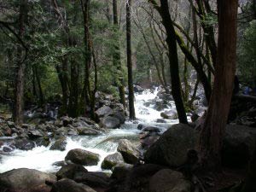
[[[63,151],[66,149],[67,136],[96,136],[102,134],[107,128],[110,127],[101,123],[96,124],[95,121],[85,117],[73,119],[65,116],[40,125],[23,124],[21,126],[1,119],[0,137],[3,139],[0,141],[0,148],[4,145],[3,152],[10,152],[15,148],[30,150],[36,146],[47,147],[50,141],[54,140],[50,149]]]

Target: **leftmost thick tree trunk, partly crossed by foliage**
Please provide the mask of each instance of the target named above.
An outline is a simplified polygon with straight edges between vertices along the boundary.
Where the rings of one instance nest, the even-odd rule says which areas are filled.
[[[22,39],[25,35],[25,23],[27,15],[27,0],[20,1],[20,16],[18,20],[19,38]],[[16,125],[22,124],[22,105],[24,94],[24,69],[25,62],[22,54],[22,46],[19,44],[17,48],[17,70],[15,78],[15,108],[14,108],[14,120]]]

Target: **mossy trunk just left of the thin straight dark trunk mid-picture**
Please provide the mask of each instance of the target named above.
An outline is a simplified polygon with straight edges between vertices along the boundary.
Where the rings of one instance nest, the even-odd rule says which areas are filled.
[[[117,11],[117,1],[113,0],[113,27],[114,27],[114,50],[113,50],[113,65],[117,69],[117,77],[116,77],[116,84],[119,87],[119,97],[120,102],[123,104],[125,108],[125,86],[124,86],[124,78],[122,74],[122,65],[121,65],[121,55],[120,55],[120,47],[119,47],[119,17]]]

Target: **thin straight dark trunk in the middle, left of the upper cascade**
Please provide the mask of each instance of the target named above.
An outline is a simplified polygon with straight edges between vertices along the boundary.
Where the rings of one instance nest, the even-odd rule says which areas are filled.
[[[127,40],[129,112],[130,112],[130,119],[135,119],[134,93],[133,93],[133,81],[132,81],[132,61],[131,61],[131,0],[128,0],[128,2],[126,3],[126,40]]]

